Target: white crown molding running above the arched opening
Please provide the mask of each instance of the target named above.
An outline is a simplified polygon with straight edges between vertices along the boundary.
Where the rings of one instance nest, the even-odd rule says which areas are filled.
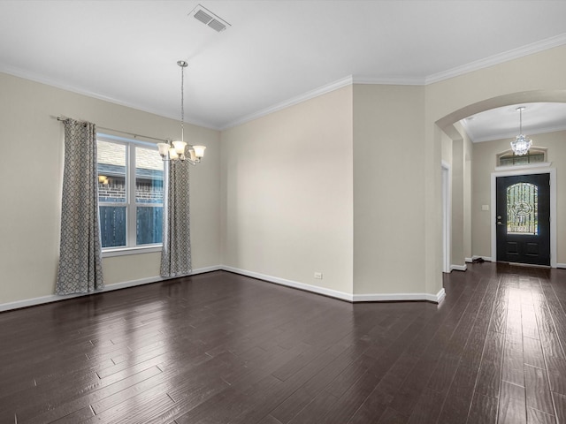
[[[478,71],[480,69],[493,66],[494,64],[502,64],[504,62],[508,62],[509,60],[529,56],[534,53],[539,53],[543,50],[562,46],[563,44],[566,44],[566,34],[556,35],[555,37],[547,38],[546,40],[543,40],[541,42],[533,42],[532,44],[527,44],[526,46],[520,47],[518,49],[512,49],[504,53],[471,62],[470,64],[463,64],[462,66],[456,66],[455,68],[448,69],[447,71],[434,73],[424,79],[424,84],[428,85],[435,82],[440,82],[444,79],[454,78],[463,75],[464,73]]]

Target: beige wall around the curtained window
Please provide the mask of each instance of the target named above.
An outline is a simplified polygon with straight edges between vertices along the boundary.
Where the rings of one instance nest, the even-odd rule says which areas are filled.
[[[57,274],[63,125],[57,116],[156,138],[175,138],[174,119],[0,73],[0,305],[53,294]],[[219,133],[185,126],[188,140],[207,147],[191,170],[193,268],[221,262]],[[26,155],[22,151],[26,150]],[[106,284],[159,275],[159,254],[103,259]]]

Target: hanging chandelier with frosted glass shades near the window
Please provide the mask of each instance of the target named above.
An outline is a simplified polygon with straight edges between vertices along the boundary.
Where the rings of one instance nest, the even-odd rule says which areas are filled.
[[[204,146],[190,146],[185,141],[185,68],[187,62],[180,60],[177,62],[180,66],[180,140],[170,141],[166,143],[157,143],[159,155],[164,161],[196,163],[201,162],[204,157]],[[188,154],[188,157],[187,157]]]

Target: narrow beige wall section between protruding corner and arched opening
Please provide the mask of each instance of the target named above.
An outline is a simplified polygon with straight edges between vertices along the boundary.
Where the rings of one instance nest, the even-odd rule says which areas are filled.
[[[356,294],[425,292],[423,134],[424,87],[354,86]]]

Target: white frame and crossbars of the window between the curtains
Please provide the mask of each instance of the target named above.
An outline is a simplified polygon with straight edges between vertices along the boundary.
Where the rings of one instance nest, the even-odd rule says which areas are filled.
[[[103,201],[98,203],[99,208],[101,206],[126,207],[126,246],[103,247],[103,258],[111,256],[122,256],[126,254],[149,254],[152,252],[161,252],[163,243],[137,246],[135,228],[137,218],[136,210],[138,207],[164,207],[164,203],[151,203],[151,206],[149,206],[147,203],[137,203],[135,201],[135,148],[155,148],[155,150],[157,151],[157,145],[149,141],[131,140],[124,137],[104,133],[96,133],[96,141],[98,140],[120,144],[126,147],[126,202]],[[134,223],[134,225],[132,225],[132,223]]]

